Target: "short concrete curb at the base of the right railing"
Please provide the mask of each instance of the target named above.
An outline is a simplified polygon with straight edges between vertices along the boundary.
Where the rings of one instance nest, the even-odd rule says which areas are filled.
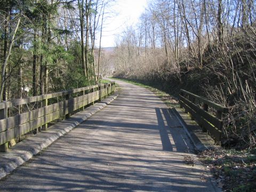
[[[203,151],[210,148],[215,148],[214,140],[207,133],[202,131],[199,125],[187,125],[185,120],[181,117],[182,111],[177,108],[171,109],[172,113],[178,119],[183,129],[186,131],[188,137],[193,142],[196,150]]]

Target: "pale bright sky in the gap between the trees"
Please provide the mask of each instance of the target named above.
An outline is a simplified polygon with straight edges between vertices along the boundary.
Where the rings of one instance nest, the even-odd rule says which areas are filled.
[[[126,26],[135,25],[139,21],[146,5],[147,0],[116,0],[114,5],[107,7],[106,18],[103,21],[101,47],[116,46],[116,36],[122,34]]]

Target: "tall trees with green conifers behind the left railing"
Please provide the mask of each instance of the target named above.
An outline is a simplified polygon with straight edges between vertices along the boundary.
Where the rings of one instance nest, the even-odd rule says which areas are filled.
[[[97,83],[95,40],[110,2],[1,0],[1,100]]]

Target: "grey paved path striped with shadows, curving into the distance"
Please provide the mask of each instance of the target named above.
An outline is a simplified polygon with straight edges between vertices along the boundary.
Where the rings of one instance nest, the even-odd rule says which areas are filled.
[[[190,140],[150,91],[119,82],[109,106],[0,181],[0,191],[215,191],[184,163]]]

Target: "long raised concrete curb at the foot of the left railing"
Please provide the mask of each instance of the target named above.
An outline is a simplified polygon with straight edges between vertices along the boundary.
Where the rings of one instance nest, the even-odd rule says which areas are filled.
[[[33,137],[19,142],[7,153],[0,152],[0,179],[15,170],[17,167],[27,162],[31,157],[38,154],[44,148],[51,145],[62,135],[71,131],[77,125],[90,118],[102,108],[109,105],[118,97],[118,93],[111,94],[107,99],[95,103],[93,106],[72,115],[70,118],[52,125],[48,130],[39,132]]]

